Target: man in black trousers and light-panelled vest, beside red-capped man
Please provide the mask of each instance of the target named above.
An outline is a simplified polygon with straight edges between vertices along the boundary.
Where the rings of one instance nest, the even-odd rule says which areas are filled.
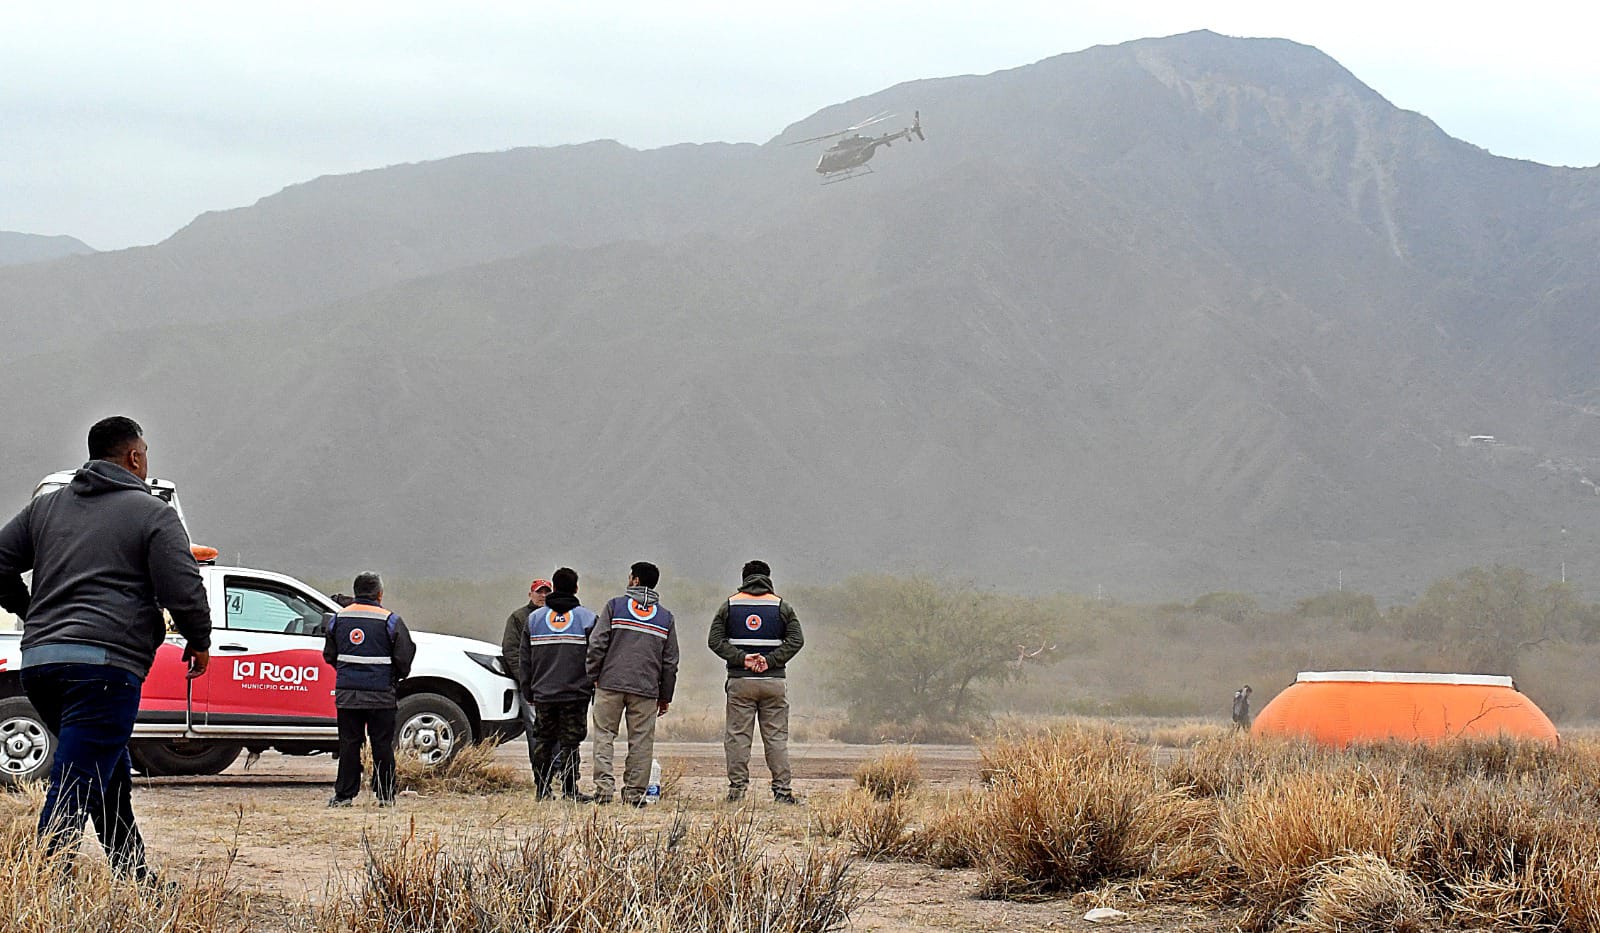
[[[586,664],[595,615],[578,603],[578,571],[563,567],[550,581],[555,591],[528,618],[517,661],[517,683],[533,707],[533,787],[539,800],[547,800],[560,775],[562,797],[587,803],[590,797],[578,792],[578,765],[594,696]]]

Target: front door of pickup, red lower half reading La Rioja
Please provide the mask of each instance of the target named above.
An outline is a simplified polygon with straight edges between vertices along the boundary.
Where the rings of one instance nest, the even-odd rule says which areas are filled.
[[[211,666],[197,680],[205,725],[331,725],[333,667],[322,659],[323,607],[294,587],[224,578],[226,627],[211,632]]]

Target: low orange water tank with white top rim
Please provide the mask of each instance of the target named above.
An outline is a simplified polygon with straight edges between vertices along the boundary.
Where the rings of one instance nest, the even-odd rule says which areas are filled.
[[[1499,735],[1560,741],[1550,717],[1517,693],[1510,677],[1384,671],[1302,671],[1261,711],[1250,731],[1341,747]]]

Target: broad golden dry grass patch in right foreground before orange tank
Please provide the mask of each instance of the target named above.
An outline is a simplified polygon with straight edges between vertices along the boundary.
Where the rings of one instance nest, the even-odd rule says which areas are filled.
[[[854,791],[821,834],[974,867],[981,896],[1243,911],[1246,930],[1600,930],[1600,743],[1334,752],[1219,735],[1162,765],[1078,727],[984,751],[954,795]]]

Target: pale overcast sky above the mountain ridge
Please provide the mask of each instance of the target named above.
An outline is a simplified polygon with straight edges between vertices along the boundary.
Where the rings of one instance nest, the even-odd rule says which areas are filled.
[[[1315,45],[1499,155],[1600,163],[1600,14],[1483,6],[5,3],[0,230],[110,250],[318,174],[597,138],[760,142],[904,80],[1190,29]]]

